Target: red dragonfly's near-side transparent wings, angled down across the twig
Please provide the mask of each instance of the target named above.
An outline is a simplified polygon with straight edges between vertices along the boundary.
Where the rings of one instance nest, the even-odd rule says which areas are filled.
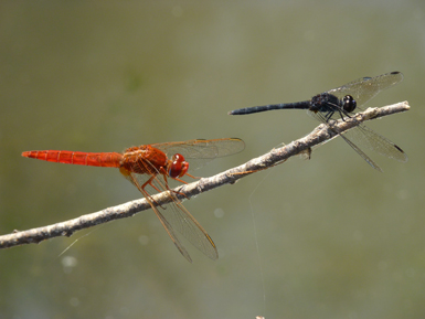
[[[146,162],[145,164],[149,164]],[[150,170],[155,169],[150,166]],[[162,174],[157,171],[157,176],[150,181],[150,185],[156,189],[156,191],[167,191],[168,188],[164,181],[161,181]],[[193,246],[200,249],[203,254],[209,256],[211,259],[215,260],[219,258],[219,253],[215,247],[214,242],[210,237],[210,235],[205,232],[205,230],[198,223],[198,221],[189,213],[189,211],[183,206],[180,200],[176,196],[173,192],[169,192],[169,196],[171,198],[171,203],[167,205],[167,208],[162,209],[161,206],[157,206],[149,192],[142,188],[142,185],[150,179],[152,176],[149,174],[138,174],[130,173],[126,177],[132,184],[137,187],[137,189],[145,195],[149,204],[151,205],[153,212],[157,214],[161,224],[166,228],[168,235],[171,237],[172,242],[179,249],[179,252],[187,258],[190,263],[192,259],[184,248],[183,244],[179,241],[177,233],[178,231],[181,235],[183,235]],[[149,185],[147,185],[148,188]]]

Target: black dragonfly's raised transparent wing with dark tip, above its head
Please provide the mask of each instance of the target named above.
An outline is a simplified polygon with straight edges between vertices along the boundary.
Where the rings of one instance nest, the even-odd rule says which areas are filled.
[[[328,91],[339,98],[346,95],[351,95],[361,108],[366,102],[376,96],[381,91],[384,91],[403,79],[403,74],[400,72],[391,72],[374,77],[361,77],[346,85]]]

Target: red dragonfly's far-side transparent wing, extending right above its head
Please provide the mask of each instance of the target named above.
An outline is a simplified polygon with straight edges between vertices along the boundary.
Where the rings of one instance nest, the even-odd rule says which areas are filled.
[[[245,143],[238,138],[192,139],[187,141],[152,143],[162,150],[168,158],[180,153],[189,161],[189,169],[195,170],[215,158],[241,152]]]

